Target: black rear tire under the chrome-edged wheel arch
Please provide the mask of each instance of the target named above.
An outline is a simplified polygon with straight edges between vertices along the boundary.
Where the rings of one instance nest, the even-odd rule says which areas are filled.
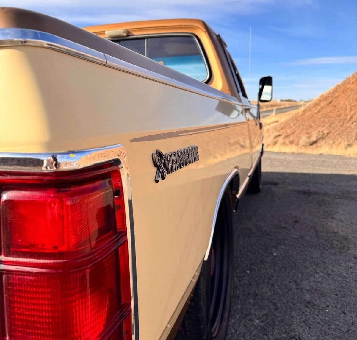
[[[218,210],[210,256],[203,261],[175,340],[226,338],[233,286],[232,211],[231,194],[226,190]]]

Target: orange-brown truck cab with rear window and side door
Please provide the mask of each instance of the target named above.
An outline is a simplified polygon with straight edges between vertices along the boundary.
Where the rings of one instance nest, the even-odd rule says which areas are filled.
[[[205,21],[148,20],[84,29],[236,97],[251,136],[252,157],[245,175],[248,173],[262,144],[257,107],[248,99],[227,44]]]

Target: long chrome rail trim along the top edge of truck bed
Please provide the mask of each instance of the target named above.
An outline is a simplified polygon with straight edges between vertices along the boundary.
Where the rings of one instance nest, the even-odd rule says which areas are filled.
[[[103,38],[104,39],[104,38]],[[20,28],[1,28],[0,29],[0,48],[6,46],[37,46],[48,48],[69,55],[79,57],[81,59],[96,62],[97,64],[108,66],[117,70],[124,71],[133,75],[154,80],[162,84],[176,87],[188,92],[199,94],[212,99],[229,102],[232,105],[239,105],[235,97],[232,97],[224,92],[214,94],[206,90],[198,89],[194,86],[185,84],[181,81],[163,76],[156,72],[146,70],[140,66],[136,66],[124,60],[117,59],[102,52],[93,50],[86,46],[74,43],[73,41],[60,38],[59,36],[45,33],[36,30],[20,29]],[[207,85],[208,86],[208,85]]]

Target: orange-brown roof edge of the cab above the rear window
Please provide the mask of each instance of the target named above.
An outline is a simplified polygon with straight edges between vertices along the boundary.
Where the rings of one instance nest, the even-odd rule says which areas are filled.
[[[165,27],[182,27],[193,26],[204,32],[216,34],[213,29],[203,20],[198,19],[164,19],[164,20],[145,20],[145,21],[129,21],[126,23],[114,23],[97,26],[84,27],[85,30],[100,34],[110,30],[136,30],[136,29],[154,29]]]

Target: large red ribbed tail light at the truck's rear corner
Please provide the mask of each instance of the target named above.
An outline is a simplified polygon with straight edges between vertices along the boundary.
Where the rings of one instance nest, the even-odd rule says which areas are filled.
[[[0,189],[2,338],[131,340],[117,167],[1,174]]]

